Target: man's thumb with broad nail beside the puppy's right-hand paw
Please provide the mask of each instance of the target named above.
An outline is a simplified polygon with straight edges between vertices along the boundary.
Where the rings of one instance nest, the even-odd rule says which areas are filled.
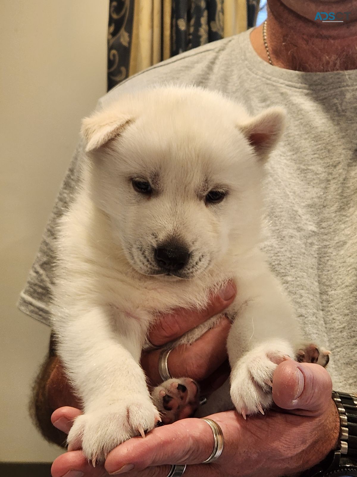
[[[273,376],[273,400],[299,415],[321,415],[330,404],[332,381],[319,364],[280,363]]]

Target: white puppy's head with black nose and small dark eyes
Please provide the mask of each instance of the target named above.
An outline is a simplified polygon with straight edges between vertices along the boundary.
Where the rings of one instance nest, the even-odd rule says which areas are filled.
[[[284,123],[219,93],[158,86],[83,120],[91,191],[114,246],[147,275],[189,279],[258,242],[263,164]]]

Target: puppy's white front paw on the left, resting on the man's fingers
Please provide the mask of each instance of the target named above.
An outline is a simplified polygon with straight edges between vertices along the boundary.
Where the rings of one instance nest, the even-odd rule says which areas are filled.
[[[159,412],[149,399],[119,401],[79,415],[69,431],[69,450],[82,448],[84,455],[96,462],[104,461],[114,447],[153,429],[160,420]]]

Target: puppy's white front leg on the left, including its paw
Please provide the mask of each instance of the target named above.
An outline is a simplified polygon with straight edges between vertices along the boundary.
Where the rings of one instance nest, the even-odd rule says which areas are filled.
[[[120,336],[110,326],[105,307],[76,316],[54,322],[60,357],[84,404],[68,443],[69,449],[81,447],[95,463],[123,441],[151,430],[159,412],[138,364],[140,324],[123,320],[125,336]]]

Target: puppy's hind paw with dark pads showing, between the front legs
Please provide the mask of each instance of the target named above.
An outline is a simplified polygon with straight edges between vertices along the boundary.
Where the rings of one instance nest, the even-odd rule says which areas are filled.
[[[159,409],[163,424],[171,424],[190,417],[199,405],[199,388],[190,378],[168,379],[151,393]]]

